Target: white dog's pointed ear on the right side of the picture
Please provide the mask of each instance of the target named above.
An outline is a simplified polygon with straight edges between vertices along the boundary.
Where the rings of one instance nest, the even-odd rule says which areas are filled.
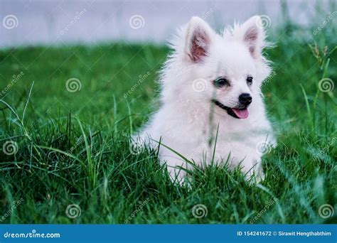
[[[260,16],[248,18],[237,30],[235,36],[240,38],[240,41],[243,41],[243,43],[247,45],[248,50],[250,50],[250,55],[252,55],[253,58],[260,58],[265,45],[265,33]]]

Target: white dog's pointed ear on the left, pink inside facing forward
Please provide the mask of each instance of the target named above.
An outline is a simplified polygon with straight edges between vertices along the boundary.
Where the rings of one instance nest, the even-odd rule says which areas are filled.
[[[214,34],[212,28],[199,17],[192,17],[188,22],[185,52],[193,63],[200,63],[205,58]]]

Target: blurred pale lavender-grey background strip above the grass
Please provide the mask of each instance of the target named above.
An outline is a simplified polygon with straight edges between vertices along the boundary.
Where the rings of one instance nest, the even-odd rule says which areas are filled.
[[[329,2],[1,0],[0,48],[107,41],[164,43],[191,16],[200,16],[220,28],[255,14],[267,15],[271,20],[268,27],[275,28],[287,14],[292,23],[307,26],[317,18],[317,11],[331,11]],[[287,13],[282,5],[287,5]],[[323,18],[317,21],[321,23]]]

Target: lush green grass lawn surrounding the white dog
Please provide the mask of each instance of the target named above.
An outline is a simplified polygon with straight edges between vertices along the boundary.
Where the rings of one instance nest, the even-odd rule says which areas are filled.
[[[0,146],[15,141],[18,149],[0,153],[0,221],[10,212],[2,223],[336,223],[319,216],[337,199],[336,87],[319,90],[322,77],[336,85],[336,29],[308,41],[298,31],[287,26],[269,38],[277,41],[267,50],[274,74],[263,92],[278,146],[263,157],[266,180],[250,184],[238,170],[210,166],[193,172],[191,190],[171,184],[156,151],[129,149],[129,134],[156,109],[168,48],[1,50],[0,90],[23,75],[1,96]],[[314,41],[328,45],[323,58],[311,51]],[[77,92],[65,87],[71,77]],[[65,213],[72,204],[81,209],[74,219]],[[200,219],[198,204],[208,210]]]

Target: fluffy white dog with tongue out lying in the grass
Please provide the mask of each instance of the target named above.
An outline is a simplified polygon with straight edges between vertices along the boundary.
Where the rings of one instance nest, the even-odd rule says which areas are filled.
[[[221,35],[198,17],[179,29],[161,71],[161,108],[137,135],[154,148],[160,141],[173,180],[193,168],[184,158],[197,166],[228,162],[263,178],[262,153],[275,145],[260,92],[270,72],[264,37],[260,16]]]

